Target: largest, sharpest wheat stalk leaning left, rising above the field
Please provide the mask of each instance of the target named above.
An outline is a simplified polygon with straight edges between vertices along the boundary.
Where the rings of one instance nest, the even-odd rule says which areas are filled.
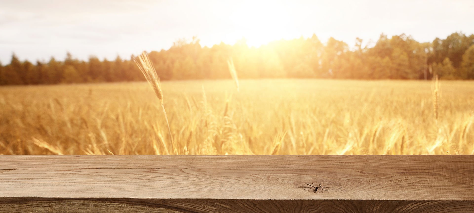
[[[170,123],[168,122],[168,115],[166,114],[166,110],[164,110],[164,102],[163,102],[163,91],[161,90],[161,82],[158,74],[156,74],[155,67],[150,61],[148,54],[143,52],[140,56],[134,57],[133,60],[137,64],[140,71],[142,71],[143,75],[145,75],[146,81],[150,84],[151,88],[156,94],[156,97],[161,102],[161,109],[163,109],[164,119],[166,120],[166,125],[168,126],[168,133],[170,134],[171,145],[173,146],[173,135],[171,134]],[[174,150],[174,146],[172,147]]]

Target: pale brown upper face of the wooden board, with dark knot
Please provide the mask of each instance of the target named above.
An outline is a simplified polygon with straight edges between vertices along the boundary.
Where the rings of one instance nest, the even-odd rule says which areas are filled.
[[[473,156],[0,156],[0,165],[2,197],[474,200]]]

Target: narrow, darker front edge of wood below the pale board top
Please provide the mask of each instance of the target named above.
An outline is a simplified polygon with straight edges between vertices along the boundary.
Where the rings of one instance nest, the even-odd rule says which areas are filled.
[[[0,198],[5,213],[472,213],[473,201]]]

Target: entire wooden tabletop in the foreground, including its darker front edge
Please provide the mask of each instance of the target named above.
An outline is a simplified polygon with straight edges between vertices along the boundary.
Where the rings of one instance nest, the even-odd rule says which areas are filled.
[[[0,156],[0,212],[79,203],[135,212],[474,212],[474,156]]]

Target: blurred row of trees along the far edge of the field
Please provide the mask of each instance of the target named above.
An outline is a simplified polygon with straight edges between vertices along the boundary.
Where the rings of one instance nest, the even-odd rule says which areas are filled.
[[[474,34],[453,33],[445,39],[420,43],[405,34],[382,34],[371,44],[355,46],[316,35],[278,40],[251,47],[245,39],[235,45],[201,46],[199,39],[180,39],[167,50],[152,51],[150,60],[162,80],[229,78],[232,58],[239,78],[338,79],[474,79]],[[113,61],[90,56],[87,61],[66,54],[64,61],[20,61],[12,55],[0,63],[0,85],[142,81],[133,56]]]

